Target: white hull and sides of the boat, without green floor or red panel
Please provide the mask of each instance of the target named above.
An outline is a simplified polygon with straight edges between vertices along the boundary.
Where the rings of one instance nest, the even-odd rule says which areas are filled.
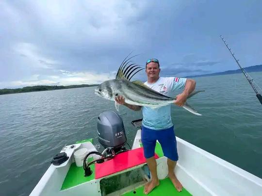
[[[94,146],[88,145],[92,150]],[[141,131],[138,130],[132,149],[140,148]],[[49,166],[44,176],[33,189],[30,196],[101,196],[100,180],[94,179],[77,186],[61,190],[63,181],[72,162],[72,153],[86,143],[76,144],[72,150],[66,146],[64,150],[69,160],[61,166]],[[179,161],[175,173],[183,187],[194,196],[259,196],[262,193],[262,179],[234,166],[213,154],[204,151],[177,137]],[[94,157],[95,158],[95,157]],[[167,176],[166,157],[157,159],[157,170],[160,179]],[[126,172],[133,168],[112,174]],[[109,177],[109,176],[107,176]],[[117,194],[123,193],[121,190]],[[116,193],[115,193],[116,194]],[[110,194],[114,195],[114,194]]]

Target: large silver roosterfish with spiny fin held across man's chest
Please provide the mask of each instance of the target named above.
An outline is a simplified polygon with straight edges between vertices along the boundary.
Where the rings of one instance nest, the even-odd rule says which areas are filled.
[[[128,57],[129,56],[121,63],[115,79],[106,80],[95,89],[95,93],[98,96],[115,101],[115,96],[121,95],[125,98],[125,103],[127,104],[151,108],[158,108],[175,103],[176,98],[168,97],[160,92],[152,90],[139,80],[131,82],[131,78],[145,68],[141,68],[137,64],[131,63],[131,58],[133,57],[127,59]],[[187,99],[202,91],[204,90],[193,91],[188,95]],[[201,114],[186,102],[182,107],[197,116],[201,116]],[[115,102],[115,109],[119,111],[119,104],[117,102]]]

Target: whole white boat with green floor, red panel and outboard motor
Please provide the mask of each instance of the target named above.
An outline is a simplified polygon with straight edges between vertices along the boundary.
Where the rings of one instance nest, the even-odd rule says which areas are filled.
[[[108,115],[112,117],[111,120]],[[101,122],[102,119],[107,125]],[[54,157],[52,164],[30,196],[144,195],[144,185],[150,179],[150,172],[141,143],[141,129],[139,129],[141,120],[132,121],[132,124],[137,127],[137,133],[131,148],[127,149],[121,117],[113,111],[100,114],[98,142],[105,147],[105,150],[102,153],[98,152],[92,138],[65,146]],[[101,127],[103,125],[105,126]],[[116,138],[114,141],[116,143],[122,140],[120,146],[119,143],[115,145],[116,148],[105,145],[106,140],[110,140],[108,138],[113,136]],[[179,137],[176,139],[179,161],[174,172],[182,183],[183,190],[178,192],[167,178],[167,158],[157,142],[155,158],[160,185],[153,189],[149,196],[260,196],[262,194],[262,179],[259,177]],[[79,159],[80,151],[87,153],[82,160]],[[113,154],[110,154],[110,151]]]

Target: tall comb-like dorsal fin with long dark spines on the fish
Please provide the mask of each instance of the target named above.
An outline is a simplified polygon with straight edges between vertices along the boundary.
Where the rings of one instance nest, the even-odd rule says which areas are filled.
[[[131,53],[130,53],[131,54]],[[129,55],[130,55],[129,54]],[[145,68],[141,68],[140,66],[138,66],[135,63],[131,63],[131,58],[138,56],[138,55],[134,55],[131,58],[127,59],[129,57],[129,55],[123,60],[123,62],[121,63],[117,74],[115,76],[115,79],[127,79],[130,81],[130,79],[139,71],[145,69]],[[133,72],[137,70],[134,74]]]

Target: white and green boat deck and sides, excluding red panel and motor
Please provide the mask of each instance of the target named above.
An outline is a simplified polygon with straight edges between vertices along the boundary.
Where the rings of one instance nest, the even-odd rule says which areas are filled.
[[[81,143],[81,144],[79,144]],[[94,151],[92,140],[82,140],[75,147],[68,145],[63,148],[72,158],[73,152],[82,147]],[[234,166],[213,154],[204,151],[177,137],[180,161],[174,172],[184,185],[178,192],[167,176],[166,157],[161,145],[157,143],[155,153],[160,157],[157,166],[160,172],[160,185],[149,196],[258,196],[262,193],[262,179]],[[72,148],[73,147],[73,148]],[[142,147],[141,131],[138,130],[132,149]],[[94,159],[98,157],[93,156]],[[114,160],[114,159],[113,159]],[[84,177],[82,167],[77,167],[69,159],[61,166],[49,166],[30,196],[142,196],[149,170],[140,164],[126,170],[117,171],[107,177],[96,179],[96,166],[91,165],[93,175]]]

